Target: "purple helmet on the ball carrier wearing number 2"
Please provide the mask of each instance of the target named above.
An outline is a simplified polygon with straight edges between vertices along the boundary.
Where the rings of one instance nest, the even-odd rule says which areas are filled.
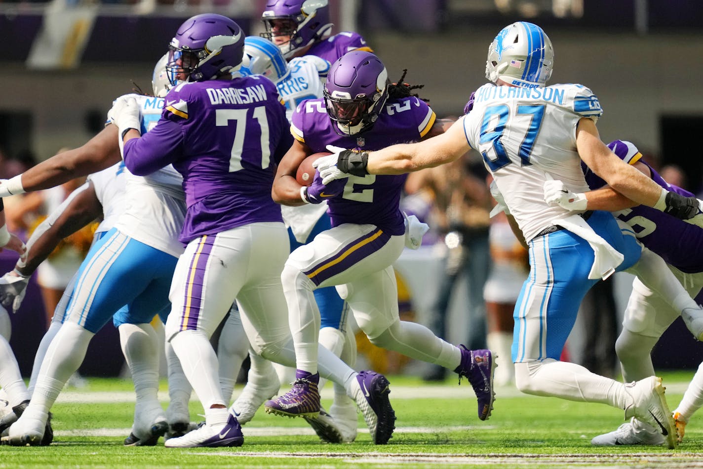
[[[388,72],[379,58],[351,51],[330,67],[323,90],[330,119],[339,135],[369,130],[388,99]]]

